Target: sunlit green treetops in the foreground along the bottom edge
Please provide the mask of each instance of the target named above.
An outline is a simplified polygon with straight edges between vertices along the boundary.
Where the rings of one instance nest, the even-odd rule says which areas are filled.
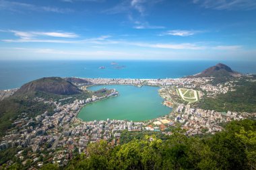
[[[102,140],[59,169],[255,169],[255,151],[256,121],[243,120],[207,138],[176,128],[165,140],[145,135],[114,147]]]

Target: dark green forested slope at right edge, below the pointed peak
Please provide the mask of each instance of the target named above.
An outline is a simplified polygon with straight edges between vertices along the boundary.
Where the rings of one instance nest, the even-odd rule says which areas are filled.
[[[198,107],[218,112],[256,112],[256,82],[239,81],[236,91],[201,99]]]

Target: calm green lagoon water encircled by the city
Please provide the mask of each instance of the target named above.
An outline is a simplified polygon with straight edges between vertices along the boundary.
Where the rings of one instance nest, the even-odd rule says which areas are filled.
[[[158,95],[159,87],[135,87],[133,85],[98,85],[88,87],[96,91],[106,87],[117,89],[119,96],[110,97],[101,101],[90,103],[78,114],[78,118],[85,121],[93,120],[150,120],[164,116],[171,109],[162,105],[162,97]]]

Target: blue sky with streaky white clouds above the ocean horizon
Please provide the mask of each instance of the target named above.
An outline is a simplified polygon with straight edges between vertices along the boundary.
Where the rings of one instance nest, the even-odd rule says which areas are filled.
[[[0,60],[256,60],[255,0],[0,0]]]

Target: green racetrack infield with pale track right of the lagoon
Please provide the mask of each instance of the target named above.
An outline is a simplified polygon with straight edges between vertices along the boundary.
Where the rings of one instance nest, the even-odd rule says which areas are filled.
[[[181,95],[181,98],[185,101],[189,101],[189,102],[198,101],[197,91],[193,89],[179,88],[178,92],[179,92],[179,95]]]

